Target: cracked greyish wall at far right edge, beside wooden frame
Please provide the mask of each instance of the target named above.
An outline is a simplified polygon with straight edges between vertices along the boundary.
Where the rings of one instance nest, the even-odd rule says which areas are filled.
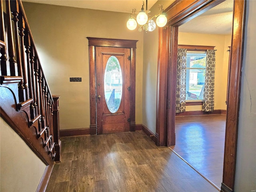
[[[256,190],[256,1],[247,1],[234,191]]]

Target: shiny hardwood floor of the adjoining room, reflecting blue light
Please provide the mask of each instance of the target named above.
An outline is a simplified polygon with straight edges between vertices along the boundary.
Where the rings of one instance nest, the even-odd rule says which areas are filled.
[[[226,115],[177,116],[171,147],[203,176],[221,186]]]

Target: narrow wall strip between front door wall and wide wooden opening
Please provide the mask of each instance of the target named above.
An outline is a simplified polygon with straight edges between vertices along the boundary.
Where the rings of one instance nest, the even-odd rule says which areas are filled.
[[[158,5],[167,8],[174,0],[158,1],[150,9],[152,15],[157,14]],[[156,88],[157,88],[157,55],[158,55],[158,28],[152,32],[144,32],[143,41],[143,100],[142,124],[153,133],[156,132]]]

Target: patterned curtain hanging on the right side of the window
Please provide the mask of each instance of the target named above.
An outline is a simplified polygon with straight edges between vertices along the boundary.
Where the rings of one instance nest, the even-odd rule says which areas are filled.
[[[206,52],[206,72],[204,82],[203,111],[214,110],[214,76],[215,76],[215,50]]]

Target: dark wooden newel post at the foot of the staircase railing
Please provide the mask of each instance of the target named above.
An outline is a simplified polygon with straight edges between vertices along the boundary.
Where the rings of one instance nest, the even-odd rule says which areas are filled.
[[[52,99],[54,102],[53,107],[53,116],[52,116],[52,122],[53,122],[53,136],[54,136],[54,149],[56,152],[56,156],[54,158],[55,162],[60,162],[60,152],[61,152],[61,140],[60,140],[60,127],[59,127],[59,95],[52,95]]]

